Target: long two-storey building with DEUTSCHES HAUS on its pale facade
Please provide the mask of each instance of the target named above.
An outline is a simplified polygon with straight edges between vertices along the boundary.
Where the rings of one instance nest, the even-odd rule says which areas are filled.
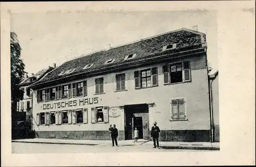
[[[40,138],[119,140],[135,127],[160,141],[210,141],[206,36],[188,29],[98,51],[63,63],[30,87]]]

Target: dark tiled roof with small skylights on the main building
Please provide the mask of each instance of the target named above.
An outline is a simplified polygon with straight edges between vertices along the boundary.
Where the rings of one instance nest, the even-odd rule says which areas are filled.
[[[82,55],[77,59],[63,63],[33,85],[39,85],[44,82],[65,78],[75,74],[90,73],[103,67],[121,65],[122,63],[133,62],[135,60],[138,62],[145,58],[154,57],[157,53],[164,52],[163,46],[168,44],[177,44],[175,49],[168,51],[168,53],[176,53],[180,51],[201,48],[202,43],[205,42],[205,35],[203,33],[183,28],[155,37],[142,39],[138,42],[113,47],[109,50],[102,50],[84,56]],[[136,57],[134,59],[124,61],[124,58],[127,55],[134,53],[136,53]],[[104,63],[109,59],[115,59],[114,63],[104,65]],[[84,66],[91,63],[94,63],[91,68],[83,69]],[[75,70],[72,73],[59,75],[61,72],[72,70],[74,68]]]

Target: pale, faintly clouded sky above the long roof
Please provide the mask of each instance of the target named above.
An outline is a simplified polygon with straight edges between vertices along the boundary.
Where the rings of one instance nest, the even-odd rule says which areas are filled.
[[[207,59],[218,69],[217,15],[209,11],[12,13],[25,71],[36,73],[111,46],[186,27],[206,34]]]

